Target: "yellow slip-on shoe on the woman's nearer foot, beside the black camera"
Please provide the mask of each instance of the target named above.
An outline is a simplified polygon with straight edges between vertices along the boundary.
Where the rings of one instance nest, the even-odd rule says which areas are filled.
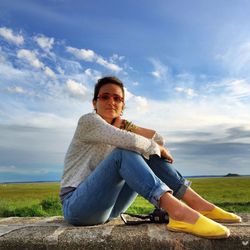
[[[230,235],[228,228],[203,215],[200,215],[195,224],[169,218],[167,228],[173,232],[185,232],[209,239],[223,239]]]

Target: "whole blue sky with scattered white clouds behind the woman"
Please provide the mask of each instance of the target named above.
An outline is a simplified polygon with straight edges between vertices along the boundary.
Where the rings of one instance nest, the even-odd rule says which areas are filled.
[[[60,179],[95,81],[184,175],[249,174],[250,2],[0,2],[0,182]]]

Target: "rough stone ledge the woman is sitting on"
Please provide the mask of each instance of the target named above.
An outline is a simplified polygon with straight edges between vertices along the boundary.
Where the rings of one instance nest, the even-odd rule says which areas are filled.
[[[243,223],[227,224],[231,236],[208,240],[174,233],[164,224],[126,226],[120,219],[104,225],[73,227],[62,217],[0,219],[0,249],[250,249],[250,214]]]

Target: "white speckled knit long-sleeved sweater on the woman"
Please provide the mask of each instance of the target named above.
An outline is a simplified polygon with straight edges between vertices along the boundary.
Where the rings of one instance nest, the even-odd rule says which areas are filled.
[[[147,139],[110,125],[96,113],[83,115],[65,157],[61,188],[77,187],[116,147],[148,158],[152,154],[160,156],[158,144],[164,141],[157,133]]]

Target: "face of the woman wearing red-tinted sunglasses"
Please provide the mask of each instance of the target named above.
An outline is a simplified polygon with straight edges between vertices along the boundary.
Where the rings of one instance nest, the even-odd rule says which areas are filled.
[[[121,115],[124,101],[122,89],[112,83],[103,85],[98,93],[98,98],[93,101],[96,113],[105,121],[111,123],[114,118]]]

